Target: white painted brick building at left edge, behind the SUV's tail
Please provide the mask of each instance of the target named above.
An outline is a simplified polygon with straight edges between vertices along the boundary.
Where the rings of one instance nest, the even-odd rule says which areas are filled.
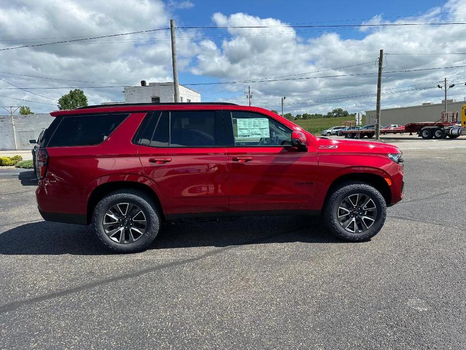
[[[36,139],[42,130],[48,128],[53,117],[48,113],[14,115],[18,149],[31,149],[30,139]],[[14,150],[15,139],[10,115],[0,115],[0,150]]]

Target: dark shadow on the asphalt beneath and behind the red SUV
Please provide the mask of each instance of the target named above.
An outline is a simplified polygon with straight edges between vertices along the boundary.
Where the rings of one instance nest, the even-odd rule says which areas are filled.
[[[312,216],[244,217],[234,221],[163,224],[149,249],[251,244],[343,243]],[[90,226],[49,221],[26,223],[0,234],[0,254],[105,255]]]

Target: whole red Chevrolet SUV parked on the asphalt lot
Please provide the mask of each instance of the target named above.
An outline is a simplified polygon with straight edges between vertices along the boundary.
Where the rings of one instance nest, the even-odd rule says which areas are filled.
[[[116,104],[51,115],[37,151],[40,214],[92,223],[117,252],[146,249],[163,221],[303,212],[362,241],[403,198],[395,146],[317,138],[263,108]]]

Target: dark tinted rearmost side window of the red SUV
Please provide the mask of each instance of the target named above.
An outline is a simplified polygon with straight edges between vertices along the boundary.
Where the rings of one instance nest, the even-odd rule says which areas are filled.
[[[65,115],[47,147],[88,146],[105,141],[129,113]]]

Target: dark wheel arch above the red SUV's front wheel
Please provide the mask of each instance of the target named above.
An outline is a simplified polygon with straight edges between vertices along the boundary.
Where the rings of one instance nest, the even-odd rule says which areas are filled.
[[[386,205],[390,205],[391,190],[388,186],[387,181],[380,174],[371,172],[352,172],[336,178],[328,187],[323,203],[325,204],[327,202],[328,197],[336,188],[348,182],[363,182],[374,187],[377,191],[381,193],[383,199],[385,199]]]

